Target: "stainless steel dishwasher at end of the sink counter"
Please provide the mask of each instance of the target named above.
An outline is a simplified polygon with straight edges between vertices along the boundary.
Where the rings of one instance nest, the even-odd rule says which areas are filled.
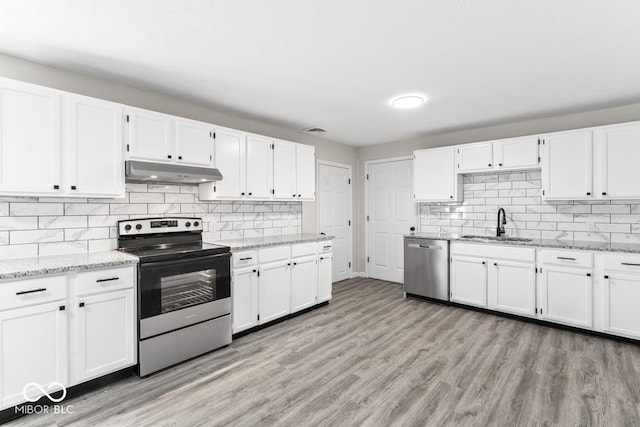
[[[405,296],[449,301],[449,241],[404,238]]]

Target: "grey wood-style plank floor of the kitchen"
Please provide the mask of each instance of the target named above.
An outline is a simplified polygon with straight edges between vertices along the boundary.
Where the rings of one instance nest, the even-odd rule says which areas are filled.
[[[15,425],[639,426],[640,348],[352,279],[326,307]]]

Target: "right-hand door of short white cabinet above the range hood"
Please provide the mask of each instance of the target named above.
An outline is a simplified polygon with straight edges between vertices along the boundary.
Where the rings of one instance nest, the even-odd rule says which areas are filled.
[[[175,119],[176,162],[209,167],[213,164],[213,129],[207,123]]]

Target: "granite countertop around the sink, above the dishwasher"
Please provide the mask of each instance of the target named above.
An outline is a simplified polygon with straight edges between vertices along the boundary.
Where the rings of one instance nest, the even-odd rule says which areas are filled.
[[[509,241],[509,240],[477,240],[462,237],[458,234],[437,234],[437,233],[415,233],[405,234],[404,237],[415,237],[419,239],[450,240],[469,243],[480,243],[488,245],[510,245],[510,246],[533,246],[539,248],[555,249],[580,249],[587,251],[606,252],[626,252],[640,254],[640,243],[611,243],[611,242],[589,242],[579,240],[554,240],[554,239],[531,239],[530,241]]]

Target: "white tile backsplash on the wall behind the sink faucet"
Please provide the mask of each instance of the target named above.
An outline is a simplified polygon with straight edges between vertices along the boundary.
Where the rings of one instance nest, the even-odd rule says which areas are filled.
[[[640,201],[542,201],[539,171],[464,176],[460,204],[420,206],[422,232],[495,235],[498,208],[507,235],[640,243]]]

